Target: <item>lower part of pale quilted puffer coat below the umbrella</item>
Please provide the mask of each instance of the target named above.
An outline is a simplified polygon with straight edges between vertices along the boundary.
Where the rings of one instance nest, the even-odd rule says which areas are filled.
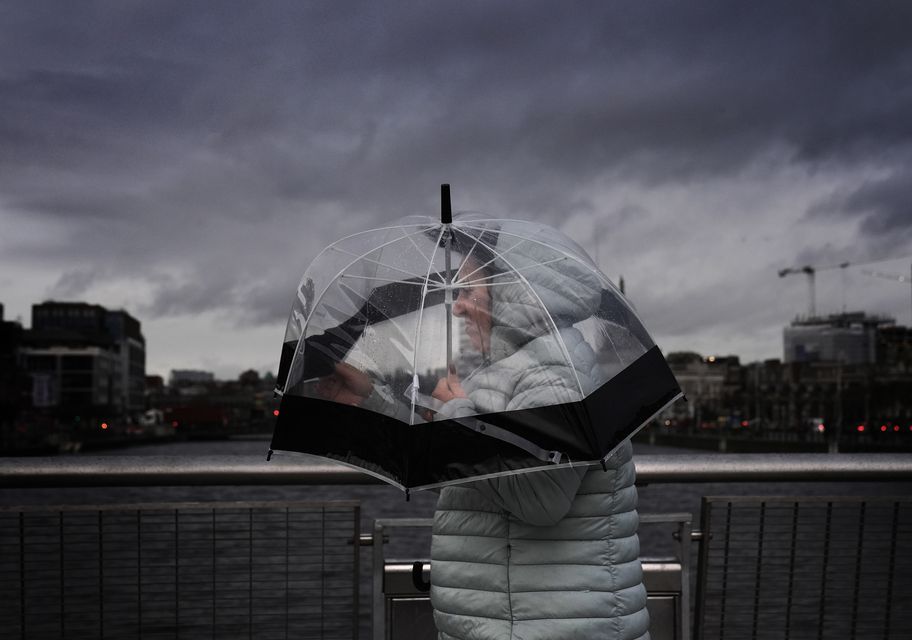
[[[446,487],[431,602],[441,640],[648,638],[630,443],[608,470]]]

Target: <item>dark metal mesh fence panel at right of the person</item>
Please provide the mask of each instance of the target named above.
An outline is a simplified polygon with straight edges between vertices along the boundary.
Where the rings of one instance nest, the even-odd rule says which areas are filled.
[[[698,638],[912,638],[912,498],[708,497]]]

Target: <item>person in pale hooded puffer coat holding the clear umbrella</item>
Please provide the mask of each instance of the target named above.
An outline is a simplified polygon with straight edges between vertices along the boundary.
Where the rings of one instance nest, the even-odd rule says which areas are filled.
[[[525,277],[536,300],[525,285],[491,286],[497,260],[477,248],[472,253],[457,278],[467,282],[453,315],[463,319],[482,364],[463,379],[450,370],[437,382],[435,417],[581,399],[597,364],[572,322],[592,315],[597,283],[584,273],[529,269]],[[541,312],[543,303],[551,314]],[[356,369],[340,365],[336,375],[337,398],[377,402]],[[441,490],[431,543],[440,640],[649,638],[629,441],[605,466],[504,475]]]

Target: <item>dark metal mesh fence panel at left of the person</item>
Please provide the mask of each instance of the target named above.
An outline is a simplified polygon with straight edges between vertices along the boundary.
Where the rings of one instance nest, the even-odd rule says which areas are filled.
[[[4,638],[357,638],[356,502],[0,509]]]

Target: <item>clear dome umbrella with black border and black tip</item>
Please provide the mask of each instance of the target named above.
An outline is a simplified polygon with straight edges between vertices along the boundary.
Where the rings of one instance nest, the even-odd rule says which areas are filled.
[[[295,292],[270,456],[408,491],[599,464],[681,390],[630,303],[548,226],[450,211],[342,238]]]

